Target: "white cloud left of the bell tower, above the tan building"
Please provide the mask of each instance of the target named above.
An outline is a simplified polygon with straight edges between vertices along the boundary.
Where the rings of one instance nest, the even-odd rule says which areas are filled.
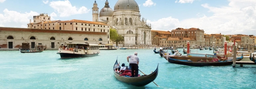
[[[52,1],[50,2],[50,7],[58,12],[60,17],[68,17],[76,14],[88,13],[90,9],[82,6],[77,9],[75,6],[72,6],[68,0],[65,1]]]

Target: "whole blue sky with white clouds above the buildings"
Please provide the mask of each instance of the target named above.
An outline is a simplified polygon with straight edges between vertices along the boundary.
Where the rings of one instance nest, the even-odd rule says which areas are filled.
[[[51,20],[92,21],[95,0],[0,0],[0,27],[27,28],[48,13]],[[106,0],[96,0],[99,10]],[[108,0],[110,8],[118,0]],[[152,30],[199,28],[206,34],[256,36],[256,0],[135,0]]]

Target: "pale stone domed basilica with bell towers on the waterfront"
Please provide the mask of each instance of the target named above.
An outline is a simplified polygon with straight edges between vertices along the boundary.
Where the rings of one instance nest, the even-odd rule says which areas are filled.
[[[121,46],[151,45],[151,25],[142,18],[139,5],[135,0],[118,0],[114,10],[106,0],[105,6],[98,13],[96,1],[92,7],[92,21],[101,22],[115,29],[124,38]]]

